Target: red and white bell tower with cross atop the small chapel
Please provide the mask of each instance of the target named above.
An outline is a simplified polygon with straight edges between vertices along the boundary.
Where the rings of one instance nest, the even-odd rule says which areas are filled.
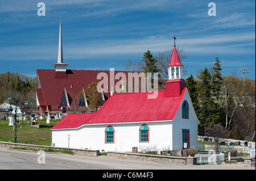
[[[168,65],[168,81],[166,82],[167,98],[180,96],[182,89],[186,87],[186,82],[183,79],[183,65],[176,50],[175,40],[176,37],[174,35],[174,49]]]

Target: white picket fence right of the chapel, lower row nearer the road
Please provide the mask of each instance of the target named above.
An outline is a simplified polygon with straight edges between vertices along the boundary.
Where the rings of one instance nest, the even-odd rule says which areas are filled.
[[[200,150],[216,150],[217,145],[199,145]],[[228,153],[229,150],[237,150],[238,153],[247,153],[250,154],[250,146],[241,146],[241,145],[218,145],[218,151],[222,153]]]

